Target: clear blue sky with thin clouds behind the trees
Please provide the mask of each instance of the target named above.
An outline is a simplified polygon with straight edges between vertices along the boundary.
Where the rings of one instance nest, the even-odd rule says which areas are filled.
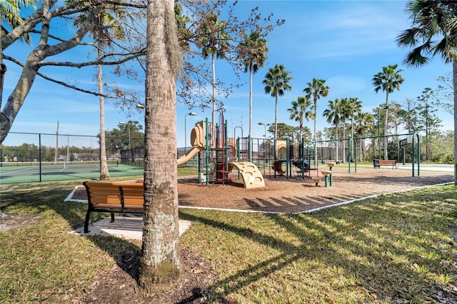
[[[436,78],[449,74],[450,64],[443,64],[438,57],[420,69],[402,64],[406,50],[396,46],[395,38],[410,26],[404,14],[405,4],[406,1],[239,1],[236,11],[240,16],[248,14],[253,6],[259,6],[265,16],[273,12],[274,19],[286,19],[285,24],[269,34],[268,61],[253,77],[251,135],[262,138],[264,127],[259,126],[258,122],[274,121],[274,98],[263,92],[262,81],[268,69],[275,64],[283,64],[293,77],[290,83],[292,91],[287,91],[278,100],[278,122],[296,125],[296,122],[288,119],[286,111],[291,106],[291,101],[303,96],[303,88],[312,78],[326,79],[330,89],[328,97],[318,101],[318,130],[329,127],[321,116],[328,100],[357,97],[363,101],[363,110],[368,112],[383,103],[385,93],[375,93],[371,84],[371,78],[383,66],[398,64],[404,70],[402,75],[405,81],[400,91],[391,93],[391,101],[404,103],[406,98],[416,99],[426,87],[436,88]],[[18,46],[16,49],[7,49],[5,54],[12,56],[13,52],[21,52],[26,55],[24,49],[23,45]],[[86,54],[79,53],[78,56],[83,56],[82,60],[86,58]],[[21,72],[14,64],[6,64],[9,70],[6,74],[4,99],[16,85],[17,76]],[[59,71],[58,68],[43,71],[62,80],[77,79],[79,83],[94,83],[94,69],[76,70],[74,74]],[[241,79],[236,80],[233,71],[223,61],[216,61],[216,76],[227,82],[245,83],[222,101],[226,109],[229,136],[233,136],[233,128],[236,126],[242,126],[243,135],[246,136],[249,117],[248,74],[241,73]],[[122,83],[122,80],[116,81]],[[143,83],[125,82],[124,86],[144,88]],[[206,117],[211,120],[211,110],[189,110],[179,103],[176,109],[179,147],[184,146],[184,115],[189,111],[196,112],[197,115],[186,117],[187,143],[194,123]],[[119,122],[129,119],[143,121],[141,112],[129,117],[109,101],[106,103],[105,116],[107,129],[118,128]],[[451,130],[451,114],[442,112],[440,118],[443,120],[443,128]],[[61,134],[96,135],[99,132],[98,98],[74,93],[36,78],[11,131],[55,133],[57,121]],[[312,121],[305,125],[313,129]],[[239,129],[236,136],[241,136]],[[16,144],[12,139],[11,136],[7,137],[4,144]]]

